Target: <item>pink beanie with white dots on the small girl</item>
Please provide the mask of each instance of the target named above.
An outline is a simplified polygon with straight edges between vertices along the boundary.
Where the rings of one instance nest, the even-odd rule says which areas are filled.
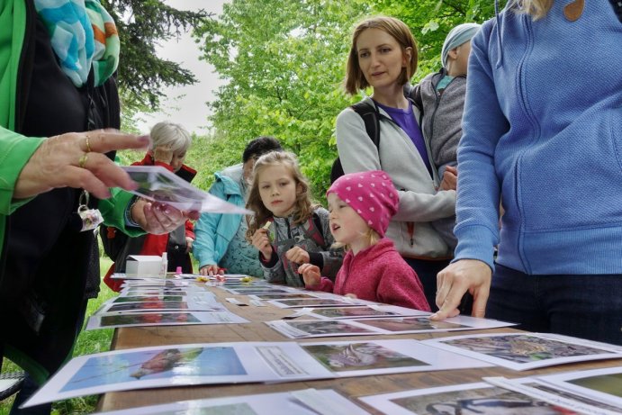
[[[331,193],[337,194],[381,237],[384,237],[400,203],[400,195],[393,186],[391,176],[382,170],[341,176],[326,192],[327,195]]]

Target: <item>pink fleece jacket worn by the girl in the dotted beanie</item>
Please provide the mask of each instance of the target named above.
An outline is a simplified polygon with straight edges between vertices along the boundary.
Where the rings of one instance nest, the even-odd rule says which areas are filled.
[[[352,251],[347,252],[335,284],[322,276],[319,286],[307,285],[306,288],[340,295],[355,294],[361,300],[430,311],[419,276],[387,238],[356,256]]]

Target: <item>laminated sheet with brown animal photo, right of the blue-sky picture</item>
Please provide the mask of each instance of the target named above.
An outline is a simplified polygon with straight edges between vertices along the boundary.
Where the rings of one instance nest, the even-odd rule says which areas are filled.
[[[338,377],[492,366],[412,339],[305,342],[299,345]]]

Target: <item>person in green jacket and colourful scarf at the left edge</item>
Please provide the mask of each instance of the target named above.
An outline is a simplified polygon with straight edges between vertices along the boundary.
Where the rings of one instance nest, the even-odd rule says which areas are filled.
[[[0,40],[0,357],[41,383],[70,357],[84,318],[96,209],[131,235],[198,213],[122,190],[136,185],[114,150],[149,139],[103,130],[120,127],[120,42],[99,0],[6,0]]]

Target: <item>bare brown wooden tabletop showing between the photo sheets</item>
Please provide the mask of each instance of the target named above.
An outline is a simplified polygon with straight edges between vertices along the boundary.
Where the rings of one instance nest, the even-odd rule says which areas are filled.
[[[233,295],[221,289],[212,289],[219,300],[230,311],[251,321],[245,324],[214,324],[214,325],[190,325],[190,326],[161,326],[144,328],[116,329],[113,337],[113,350],[122,350],[133,347],[165,346],[189,343],[221,343],[238,341],[293,341],[290,338],[270,329],[263,321],[279,320],[286,315],[292,314],[293,309],[279,309],[270,304],[267,307],[239,306],[225,301],[225,297],[235,297],[240,302],[249,302],[244,295]],[[306,318],[306,317],[304,317]],[[518,331],[516,329],[489,329],[453,331],[445,333],[424,333],[392,336],[356,336],[356,337],[330,337],[330,338],[306,338],[296,341],[331,341],[331,340],[364,340],[379,338],[439,338],[457,336],[466,333],[493,333]],[[244,383],[235,385],[205,385],[205,386],[181,386],[171,388],[135,390],[127,392],[105,393],[99,401],[98,410],[121,410],[139,406],[169,403],[173,401],[185,401],[192,399],[222,398],[253,393],[287,392],[306,388],[334,389],[349,397],[356,404],[371,413],[379,413],[356,397],[400,392],[408,389],[429,388],[458,383],[480,382],[483,376],[506,376],[523,377],[534,374],[551,374],[571,370],[594,369],[622,365],[622,358],[615,360],[603,360],[586,362],[572,365],[557,365],[538,370],[513,371],[503,367],[487,367],[477,369],[461,369],[451,371],[419,372],[410,374],[383,374],[363,377],[350,377],[342,379],[330,379],[309,382],[291,383]]]

